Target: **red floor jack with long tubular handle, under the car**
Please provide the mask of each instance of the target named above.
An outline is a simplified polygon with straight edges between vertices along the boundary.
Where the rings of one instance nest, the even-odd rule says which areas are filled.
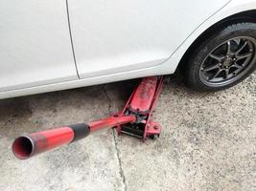
[[[163,76],[144,77],[128,98],[124,110],[112,117],[58,127],[16,138],[12,152],[17,159],[29,159],[36,154],[87,137],[104,128],[116,127],[118,135],[128,134],[145,141],[159,137],[161,126],[152,121],[152,112],[163,86]]]

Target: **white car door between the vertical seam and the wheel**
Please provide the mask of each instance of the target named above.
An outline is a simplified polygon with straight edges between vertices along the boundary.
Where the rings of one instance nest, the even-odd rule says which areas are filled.
[[[229,0],[68,0],[81,78],[164,62]]]

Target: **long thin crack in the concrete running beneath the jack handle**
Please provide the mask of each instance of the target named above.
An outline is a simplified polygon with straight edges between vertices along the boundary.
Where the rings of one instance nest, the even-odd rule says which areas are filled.
[[[108,113],[109,113],[109,115],[111,115],[112,112],[113,112],[112,111],[112,100],[111,100],[110,96],[107,94],[107,90],[106,90],[105,86],[104,86],[104,92],[105,92],[105,96],[108,99]],[[127,181],[126,181],[126,177],[125,177],[123,166],[122,166],[122,159],[120,157],[120,150],[118,148],[118,143],[117,143],[117,137],[116,137],[116,134],[115,134],[115,129],[112,129],[112,134],[113,134],[113,139],[114,139],[116,157],[118,159],[118,164],[119,164],[119,174],[120,174],[120,177],[121,177],[122,182],[124,184],[125,191],[128,191]]]

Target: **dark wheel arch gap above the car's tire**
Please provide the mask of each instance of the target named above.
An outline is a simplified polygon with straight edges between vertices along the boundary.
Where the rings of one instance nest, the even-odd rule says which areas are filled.
[[[188,63],[188,58],[193,53],[195,48],[198,46],[198,44],[203,41],[207,36],[209,36],[212,32],[215,32],[216,30],[221,29],[222,27],[226,27],[228,25],[232,25],[239,22],[253,22],[256,23],[256,9],[255,10],[249,10],[249,11],[241,11],[232,15],[229,15],[221,21],[213,24],[212,26],[208,27],[204,32],[201,32],[201,34],[198,35],[196,40],[193,41],[193,43],[189,46],[189,48],[183,53],[181,59],[178,62],[175,74],[183,76],[184,68],[186,64]]]

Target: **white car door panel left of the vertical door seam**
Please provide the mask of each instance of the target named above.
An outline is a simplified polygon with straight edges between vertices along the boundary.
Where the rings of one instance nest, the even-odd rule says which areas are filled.
[[[0,92],[77,79],[66,3],[0,0]]]

